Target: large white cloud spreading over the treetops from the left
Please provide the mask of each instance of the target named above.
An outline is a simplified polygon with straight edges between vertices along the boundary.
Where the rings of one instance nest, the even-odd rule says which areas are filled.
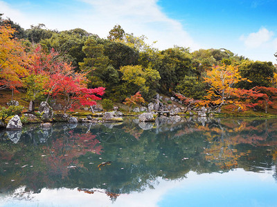
[[[107,37],[109,30],[120,24],[125,32],[134,35],[144,34],[149,43],[159,49],[166,49],[174,45],[190,47],[193,50],[199,46],[186,32],[182,24],[170,19],[157,5],[157,0],[76,0],[78,8],[71,9],[71,17],[66,9],[53,14],[51,8],[44,8],[40,13],[33,12],[30,5],[22,6],[25,10],[12,9],[11,5],[0,0],[0,12],[3,8],[5,16],[24,28],[30,25],[44,23],[49,29],[69,30],[83,28],[100,37]],[[26,3],[27,4],[27,3]],[[69,8],[70,2],[64,6]],[[61,7],[62,9],[62,7]]]

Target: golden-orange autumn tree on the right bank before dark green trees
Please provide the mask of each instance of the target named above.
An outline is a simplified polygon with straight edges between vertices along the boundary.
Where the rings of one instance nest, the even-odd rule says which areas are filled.
[[[207,71],[204,77],[206,83],[210,88],[208,95],[204,97],[206,100],[202,101],[202,105],[215,106],[217,111],[220,112],[224,104],[234,104],[242,109],[245,108],[242,101],[237,99],[240,97],[240,88],[235,88],[235,83],[239,81],[249,81],[242,79],[236,66],[214,66],[212,70]]]

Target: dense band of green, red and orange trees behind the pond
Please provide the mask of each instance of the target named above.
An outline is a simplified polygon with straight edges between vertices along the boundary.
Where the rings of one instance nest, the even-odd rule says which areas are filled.
[[[20,89],[28,101],[63,97],[64,111],[100,97],[123,103],[137,92],[146,102],[160,93],[218,111],[277,109],[273,63],[224,48],[159,50],[146,40],[119,25],[107,38],[81,28],[48,30],[44,24],[24,30],[0,15],[0,93]]]

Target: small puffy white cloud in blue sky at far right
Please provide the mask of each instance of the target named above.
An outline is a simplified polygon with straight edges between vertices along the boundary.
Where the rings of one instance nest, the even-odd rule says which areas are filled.
[[[265,43],[268,43],[273,36],[274,32],[271,32],[266,28],[260,28],[258,32],[253,32],[247,37],[242,35],[240,40],[244,42],[244,45],[247,46],[247,48],[259,48],[260,46],[264,46]]]

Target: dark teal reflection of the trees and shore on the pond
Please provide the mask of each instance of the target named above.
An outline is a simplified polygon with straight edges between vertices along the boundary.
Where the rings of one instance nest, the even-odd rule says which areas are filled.
[[[175,181],[188,181],[192,172],[195,177],[218,172],[215,182],[237,168],[243,176],[259,172],[276,179],[276,135],[276,119],[161,119],[154,124],[127,119],[2,131],[0,191],[2,197],[26,200],[62,188],[105,196],[115,205],[120,197],[161,188],[164,182],[176,188]],[[98,168],[107,161],[110,165]]]

